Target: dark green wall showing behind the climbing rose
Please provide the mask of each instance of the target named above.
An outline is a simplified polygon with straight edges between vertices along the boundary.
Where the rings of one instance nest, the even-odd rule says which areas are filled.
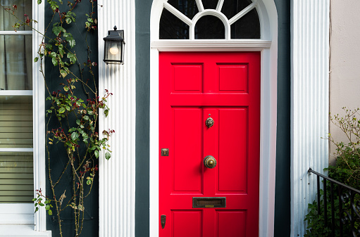
[[[67,1],[64,1],[65,6],[66,3]],[[97,4],[95,4],[95,6],[96,5]],[[46,10],[45,25],[47,26],[52,17],[52,12],[49,8],[49,4],[47,3],[45,6],[45,10]],[[60,12],[63,11],[68,11],[67,6],[60,9]],[[97,12],[97,8],[95,8],[94,11]],[[85,37],[87,32],[85,29],[85,20],[87,19],[87,17],[85,14],[91,12],[91,5],[89,1],[79,2],[74,12],[77,15],[76,23],[71,28],[66,26],[66,30],[68,30],[68,32],[71,32],[73,34],[73,37],[76,41],[76,46],[74,49],[77,54],[77,58],[79,58],[79,61],[82,64],[87,62],[87,45],[85,44]],[[95,15],[94,17],[97,18],[97,15]],[[54,34],[51,33],[51,30],[50,32],[47,32],[46,35],[48,35],[49,37],[54,36]],[[89,44],[90,49],[92,50],[91,60],[97,62],[97,58],[98,58],[97,32],[92,32],[90,34],[87,34],[87,42]],[[70,70],[78,72],[78,68],[79,68],[78,65],[73,65],[71,66]],[[63,79],[59,77],[58,68],[54,67],[54,65],[51,63],[51,60],[49,60],[49,58],[46,58],[45,60],[45,72],[46,72],[46,84],[49,87],[50,92],[58,91],[58,89],[63,91],[63,86],[59,84],[62,82]],[[97,68],[94,68],[94,74],[98,75]],[[91,75],[89,75],[89,73],[85,72],[83,75],[85,79],[92,78]],[[98,80],[98,78],[96,78],[96,80]],[[90,80],[89,83],[91,83]],[[94,85],[92,85],[92,87],[94,87]],[[78,97],[85,99],[86,101],[87,97],[85,95],[85,91],[83,91],[80,84],[77,85],[77,95],[79,95]],[[49,94],[47,94],[46,92],[45,97],[47,96],[49,96]],[[46,108],[49,108],[49,101],[46,101]],[[46,122],[48,119],[49,117],[46,117]],[[60,124],[58,124],[56,118],[51,119],[51,122],[49,123],[49,130],[53,128],[56,129],[60,127],[59,125]],[[51,174],[52,174],[51,177],[53,177],[53,179],[56,179],[56,177],[58,177],[63,171],[63,167],[64,165],[66,165],[68,158],[62,143],[49,146],[49,152],[51,157],[51,162],[50,162]],[[47,161],[47,155],[46,155],[46,161]],[[97,160],[95,160],[95,162],[97,162]],[[47,165],[48,163],[46,163],[46,173],[47,173]],[[58,198],[60,198],[61,193],[63,193],[64,190],[66,190],[66,196],[68,198],[70,198],[71,196],[72,188],[70,186],[70,181],[72,179],[72,175],[68,172],[65,175],[66,175],[65,180],[67,181],[58,184],[56,188],[57,192],[60,193],[57,195]],[[87,236],[87,237],[99,236],[99,180],[97,179],[97,177],[99,176],[95,175],[92,193],[88,198],[85,198],[85,205],[84,205],[85,221],[81,236]],[[49,186],[49,181],[46,182],[46,195],[50,197],[52,196],[51,188]],[[66,202],[66,200],[64,200],[64,202]],[[60,234],[58,231],[58,222],[57,219],[55,219],[56,217],[55,210],[53,213],[54,214],[52,216],[47,215],[46,227],[48,230],[52,231],[52,236],[56,237],[56,236],[60,236]],[[74,219],[71,208],[67,208],[67,211],[64,212],[62,221],[63,221],[62,223],[63,236],[64,237],[75,236],[74,225],[73,225]]]

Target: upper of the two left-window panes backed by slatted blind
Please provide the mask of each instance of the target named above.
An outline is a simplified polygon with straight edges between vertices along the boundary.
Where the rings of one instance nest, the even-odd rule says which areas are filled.
[[[32,96],[0,96],[0,148],[32,148]]]

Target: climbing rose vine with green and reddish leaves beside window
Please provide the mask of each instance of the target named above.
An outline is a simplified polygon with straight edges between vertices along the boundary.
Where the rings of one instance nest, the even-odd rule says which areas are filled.
[[[60,236],[63,236],[63,213],[70,208],[73,213],[74,235],[80,236],[84,226],[85,208],[88,208],[85,207],[84,200],[93,188],[94,177],[98,171],[97,158],[101,152],[104,152],[106,159],[111,158],[107,142],[114,131],[108,129],[102,132],[103,136],[99,136],[97,124],[99,111],[102,110],[107,117],[107,100],[112,94],[105,90],[104,94],[99,96],[97,75],[94,73],[97,63],[92,61],[92,50],[88,44],[88,37],[97,30],[94,12],[97,7],[96,0],[89,0],[91,9],[86,14],[85,23],[75,27],[72,26],[77,23],[75,9],[80,6],[81,0],[46,1],[45,11],[51,13],[51,20],[49,25],[46,25],[45,32],[37,32],[42,35],[43,40],[34,61],[41,65],[40,72],[46,82],[48,94],[46,157],[51,195],[46,196],[42,190],[36,190],[33,201],[35,212],[39,208],[45,208],[49,215],[56,216]],[[42,4],[42,0],[37,0],[37,4]],[[15,31],[25,25],[32,27],[32,24],[37,24],[37,21],[30,19],[27,14],[24,18],[18,18],[15,15],[16,5],[9,8],[0,3],[0,6],[15,18]],[[74,30],[78,30],[78,25],[85,27],[85,41],[81,42],[81,47],[77,47],[72,34]],[[75,50],[84,50],[84,46],[87,59],[82,62]],[[58,71],[58,77],[46,78],[43,65],[44,61],[49,62],[48,60],[53,69]],[[49,82],[58,84],[60,89],[52,91]],[[54,153],[52,146],[55,146],[59,153]],[[52,167],[58,165],[58,156],[61,155],[66,156],[66,162],[62,171],[54,174]],[[63,186],[70,188],[61,188]]]

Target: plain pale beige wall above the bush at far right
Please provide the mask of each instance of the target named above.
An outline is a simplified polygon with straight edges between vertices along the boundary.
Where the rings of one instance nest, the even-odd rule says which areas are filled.
[[[330,0],[330,114],[342,107],[360,107],[360,1]],[[347,143],[340,129],[330,122],[330,134]],[[330,143],[329,162],[334,162]]]

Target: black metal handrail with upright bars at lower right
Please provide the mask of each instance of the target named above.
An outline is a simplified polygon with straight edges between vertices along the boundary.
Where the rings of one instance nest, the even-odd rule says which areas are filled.
[[[332,236],[360,236],[360,191],[345,184],[331,179],[323,174],[320,174],[311,168],[308,170],[309,174],[316,174],[317,178],[317,204],[318,215],[323,214],[325,226],[330,224]],[[323,178],[323,213],[321,213],[321,182],[320,177]],[[328,193],[328,183],[330,182],[330,193]],[[330,194],[330,195],[329,195]],[[330,200],[328,200],[330,196]],[[338,212],[335,210],[335,199],[338,198]],[[328,205],[330,201],[331,213],[328,218]],[[335,212],[338,213],[338,219],[335,219]],[[338,224],[335,224],[338,222]],[[340,229],[335,231],[335,228]]]

